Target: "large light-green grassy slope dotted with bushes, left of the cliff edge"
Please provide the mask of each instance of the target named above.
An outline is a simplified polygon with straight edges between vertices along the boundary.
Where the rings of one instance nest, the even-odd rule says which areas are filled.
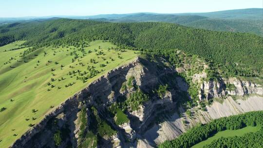
[[[6,108],[0,112],[0,148],[10,146],[31,128],[29,124],[39,123],[100,75],[138,56],[134,51],[109,50],[115,46],[102,41],[90,42],[82,51],[41,48],[24,58],[19,55],[28,48],[8,51],[23,42],[0,47],[0,109]]]

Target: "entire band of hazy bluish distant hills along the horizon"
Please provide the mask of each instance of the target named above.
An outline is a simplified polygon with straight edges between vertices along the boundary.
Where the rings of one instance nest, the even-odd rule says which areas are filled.
[[[263,36],[263,8],[226,10],[208,13],[132,13],[95,16],[0,18],[0,24],[51,18],[93,19],[108,22],[169,22],[212,31],[245,32]]]

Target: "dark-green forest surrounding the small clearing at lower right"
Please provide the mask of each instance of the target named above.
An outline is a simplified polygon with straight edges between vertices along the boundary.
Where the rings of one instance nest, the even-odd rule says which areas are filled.
[[[260,148],[263,139],[263,111],[252,111],[240,115],[223,117],[208,124],[200,124],[172,141],[165,141],[159,148],[189,148],[206,140],[208,137],[225,129],[241,129],[245,126],[261,126],[255,133],[247,133],[242,137],[220,138],[205,148]],[[258,140],[257,140],[258,139]],[[255,147],[252,147],[255,146]],[[258,147],[259,146],[259,147]]]

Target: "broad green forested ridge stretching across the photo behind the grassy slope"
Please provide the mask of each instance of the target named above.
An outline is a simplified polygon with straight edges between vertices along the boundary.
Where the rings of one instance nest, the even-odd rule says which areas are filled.
[[[180,49],[204,57],[232,75],[262,76],[263,37],[247,33],[215,32],[171,23],[109,23],[51,19],[0,26],[1,45],[27,40],[28,46],[78,45],[104,39],[133,50]]]

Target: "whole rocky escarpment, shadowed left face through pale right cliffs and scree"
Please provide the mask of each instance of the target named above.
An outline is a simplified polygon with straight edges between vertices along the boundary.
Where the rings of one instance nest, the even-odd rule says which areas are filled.
[[[227,97],[223,103],[214,102],[207,111],[197,107],[186,114],[182,103],[189,97],[188,85],[173,68],[165,66],[164,59],[150,62],[136,58],[131,63],[120,66],[99,77],[86,88],[68,98],[59,107],[18,139],[12,148],[151,148],[165,140],[178,137],[197,123],[207,123],[211,119],[263,110],[263,97],[249,96],[246,100]],[[168,84],[167,90],[156,93],[159,86]],[[229,85],[233,84],[233,85]],[[127,99],[141,90],[149,95],[137,110],[123,111],[128,122],[117,125],[109,107]],[[236,78],[209,81],[201,85],[200,98],[222,97],[226,94],[263,94],[262,86]],[[206,97],[204,97],[206,96]],[[83,125],[83,120],[86,122]],[[99,136],[94,126],[98,122],[114,130],[111,135]],[[57,145],[54,135],[61,131],[61,142]],[[97,142],[92,139],[94,132]],[[86,135],[83,137],[83,134]],[[89,146],[83,146],[88,138]]]

